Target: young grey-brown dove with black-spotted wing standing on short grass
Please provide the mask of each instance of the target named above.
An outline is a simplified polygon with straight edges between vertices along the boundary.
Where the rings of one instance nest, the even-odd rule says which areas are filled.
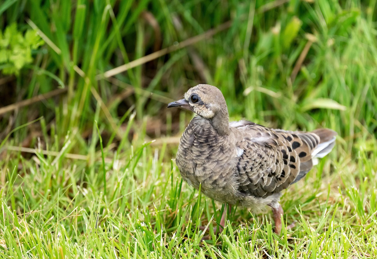
[[[303,179],[334,147],[337,133],[268,128],[247,120],[229,122],[222,92],[212,85],[190,88],[167,106],[196,113],[182,134],[176,165],[183,180],[205,196],[231,207],[271,207],[280,234],[281,192]],[[224,229],[227,210],[219,227]]]

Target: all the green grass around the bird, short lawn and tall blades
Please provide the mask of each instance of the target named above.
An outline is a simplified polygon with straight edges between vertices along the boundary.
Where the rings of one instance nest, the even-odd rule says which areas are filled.
[[[46,42],[20,75],[0,78],[4,105],[67,89],[1,115],[0,257],[376,258],[376,1],[266,2],[0,4],[2,31],[16,22]],[[224,208],[182,182],[173,157],[192,114],[165,107],[203,82],[222,90],[233,120],[339,133],[284,191],[284,224],[296,225],[281,236],[269,210],[248,208],[213,233]]]

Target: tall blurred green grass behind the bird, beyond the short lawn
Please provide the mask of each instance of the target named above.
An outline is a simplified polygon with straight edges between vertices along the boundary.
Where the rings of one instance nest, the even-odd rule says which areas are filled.
[[[6,0],[0,13],[3,34],[17,26],[21,36],[34,29],[44,40],[31,49],[32,62],[3,74],[2,106],[67,89],[18,109],[11,126],[12,113],[3,113],[3,129],[44,116],[61,139],[72,127],[92,128],[101,100],[103,130],[114,130],[106,116],[119,123],[132,107],[165,135],[161,125],[178,113],[166,103],[208,83],[222,90],[235,119],[303,130],[322,124],[349,137],[348,149],[355,134],[376,132],[375,1]],[[194,43],[180,48],[187,39]],[[166,55],[147,59],[165,48]],[[127,71],[101,76],[134,60]]]

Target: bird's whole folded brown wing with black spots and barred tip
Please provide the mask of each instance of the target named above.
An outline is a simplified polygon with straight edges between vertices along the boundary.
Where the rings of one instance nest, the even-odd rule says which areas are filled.
[[[230,126],[239,134],[235,173],[242,193],[263,197],[280,192],[313,167],[311,153],[320,143],[315,133],[273,130],[247,121]]]

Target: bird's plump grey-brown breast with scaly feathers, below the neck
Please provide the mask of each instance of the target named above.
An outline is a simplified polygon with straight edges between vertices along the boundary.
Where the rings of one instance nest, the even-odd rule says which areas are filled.
[[[195,118],[194,118],[195,119]],[[219,135],[206,119],[192,120],[182,134],[176,164],[183,179],[207,196],[233,184],[237,151],[228,136]],[[233,187],[230,187],[233,188]]]

